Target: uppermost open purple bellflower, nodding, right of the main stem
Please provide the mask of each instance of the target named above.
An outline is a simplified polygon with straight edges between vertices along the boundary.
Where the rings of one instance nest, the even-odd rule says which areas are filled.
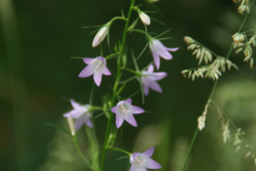
[[[160,57],[165,60],[172,60],[173,56],[168,51],[175,52],[179,50],[179,48],[167,48],[158,39],[154,38],[150,40],[149,48],[152,52],[157,69],[160,67]]]

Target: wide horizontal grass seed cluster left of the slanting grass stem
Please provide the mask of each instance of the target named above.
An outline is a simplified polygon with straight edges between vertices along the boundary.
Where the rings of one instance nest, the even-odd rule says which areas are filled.
[[[212,64],[203,65],[197,68],[184,69],[181,71],[181,74],[184,77],[191,78],[192,81],[196,77],[201,78],[210,78],[212,80],[219,79],[219,76],[222,76],[222,72],[226,71],[226,68],[230,70],[231,67],[238,69],[235,64],[232,64],[230,60],[225,59],[224,57],[218,57]]]

